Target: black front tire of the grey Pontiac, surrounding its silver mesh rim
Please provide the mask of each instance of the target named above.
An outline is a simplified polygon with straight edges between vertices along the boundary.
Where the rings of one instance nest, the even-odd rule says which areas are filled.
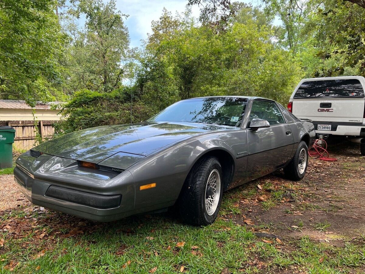
[[[217,172],[218,171],[218,172]],[[218,191],[218,178],[216,191],[219,193],[218,206],[214,213],[208,214],[205,206],[205,190],[211,174],[220,176],[220,187]],[[200,159],[189,172],[189,175],[181,190],[178,206],[181,218],[191,225],[212,224],[218,216],[220,203],[223,195],[222,167],[216,157],[204,157]]]

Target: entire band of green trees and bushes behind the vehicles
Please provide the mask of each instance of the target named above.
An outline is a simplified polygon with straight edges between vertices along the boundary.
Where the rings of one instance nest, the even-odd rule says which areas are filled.
[[[128,15],[116,10],[115,0],[1,1],[0,98],[31,106],[71,99],[57,125],[58,132],[70,132],[130,122],[132,90],[132,121],[141,121],[181,99],[251,95],[287,103],[303,77],[365,75],[365,9],[359,5],[187,4],[177,16],[164,9],[137,50],[129,46]],[[192,5],[200,8],[200,23]]]

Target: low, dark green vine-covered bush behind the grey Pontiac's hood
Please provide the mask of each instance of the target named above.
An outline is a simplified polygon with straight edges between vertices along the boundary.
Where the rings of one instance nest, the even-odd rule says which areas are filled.
[[[115,125],[145,121],[150,110],[140,101],[130,103],[131,89],[121,88],[112,92],[80,90],[62,105],[63,119],[55,124],[56,134],[100,125]]]

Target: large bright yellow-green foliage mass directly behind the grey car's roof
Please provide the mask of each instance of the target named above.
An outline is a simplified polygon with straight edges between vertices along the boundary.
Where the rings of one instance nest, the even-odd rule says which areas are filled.
[[[164,11],[153,22],[137,73],[142,98],[158,102],[160,108],[206,95],[265,96],[286,102],[299,81],[298,65],[289,52],[274,45],[274,30],[257,19],[262,14],[244,8],[248,15],[242,11],[240,20],[245,23],[237,20],[220,34],[196,26],[189,14],[173,18]]]

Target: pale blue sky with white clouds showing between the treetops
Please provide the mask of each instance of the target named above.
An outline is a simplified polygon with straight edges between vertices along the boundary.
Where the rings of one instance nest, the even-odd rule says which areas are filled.
[[[245,3],[257,5],[257,0],[243,0]],[[151,33],[152,20],[158,20],[165,7],[173,15],[184,12],[187,0],[116,0],[116,8],[129,17],[124,21],[128,27],[130,46],[140,47],[141,39]],[[192,7],[192,15],[199,17],[199,7]]]

